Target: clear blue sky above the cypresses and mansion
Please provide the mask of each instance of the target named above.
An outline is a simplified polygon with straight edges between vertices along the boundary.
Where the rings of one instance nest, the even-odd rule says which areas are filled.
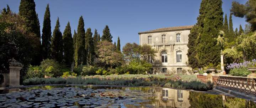
[[[223,0],[222,9],[229,17],[231,2]],[[244,4],[247,0],[236,0]],[[121,47],[128,42],[139,43],[138,32],[170,26],[194,25],[199,14],[201,0],[35,0],[41,31],[46,5],[50,6],[52,32],[57,17],[60,30],[70,22],[72,35],[78,19],[83,16],[85,30],[97,29],[100,35],[105,25],[110,27],[113,41],[120,37]],[[18,13],[20,0],[1,0],[0,9],[8,4]],[[244,28],[244,18],[233,16],[233,28]],[[41,32],[42,34],[42,32]]]

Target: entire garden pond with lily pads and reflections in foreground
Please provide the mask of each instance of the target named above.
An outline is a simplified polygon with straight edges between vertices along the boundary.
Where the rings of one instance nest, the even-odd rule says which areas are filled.
[[[0,108],[255,108],[242,98],[149,87],[34,86],[0,90]]]

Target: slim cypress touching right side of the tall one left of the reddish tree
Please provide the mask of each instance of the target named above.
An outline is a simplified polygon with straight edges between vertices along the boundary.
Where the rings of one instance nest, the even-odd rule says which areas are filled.
[[[87,61],[88,61],[88,64],[92,65],[95,58],[95,52],[94,52],[94,40],[92,38],[91,28],[88,28],[86,30],[85,38],[86,38],[85,50],[88,52]]]

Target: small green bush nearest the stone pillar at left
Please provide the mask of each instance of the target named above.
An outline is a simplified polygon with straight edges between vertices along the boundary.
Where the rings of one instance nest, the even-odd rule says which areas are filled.
[[[44,72],[41,70],[39,66],[29,66],[25,79],[27,78],[42,78],[44,76]]]

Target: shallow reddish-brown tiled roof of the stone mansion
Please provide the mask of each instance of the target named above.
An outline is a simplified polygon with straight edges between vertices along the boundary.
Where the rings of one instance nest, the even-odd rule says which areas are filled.
[[[139,34],[141,34],[141,33],[148,33],[148,32],[159,32],[159,31],[191,29],[192,27],[193,27],[193,25],[173,26],[173,27],[169,27],[169,28],[160,28],[160,29],[155,29],[155,30],[143,31],[143,32],[139,32]]]

